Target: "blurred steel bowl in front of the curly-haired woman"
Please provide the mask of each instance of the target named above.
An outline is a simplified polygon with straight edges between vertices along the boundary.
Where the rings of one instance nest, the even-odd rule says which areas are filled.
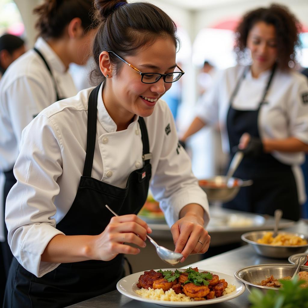
[[[199,181],[199,185],[207,194],[209,201],[231,201],[241,187],[250,186],[253,183],[252,180],[243,181],[236,177],[230,177],[228,183],[226,183],[226,178],[226,176],[214,176],[210,179]],[[202,181],[207,181],[210,184],[202,184]],[[216,187],[212,187],[213,185]],[[225,186],[221,187],[222,185]]]

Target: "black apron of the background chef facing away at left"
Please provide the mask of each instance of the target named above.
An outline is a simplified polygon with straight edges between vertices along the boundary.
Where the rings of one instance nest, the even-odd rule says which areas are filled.
[[[59,96],[58,89],[57,89],[57,83],[55,81],[55,77],[54,77],[54,75],[52,75],[51,69],[50,69],[46,59],[43,57],[42,53],[38,49],[36,49],[34,47],[33,50],[43,60],[47,70],[49,71],[49,73],[51,75],[51,78],[52,78],[52,81],[53,81],[54,87],[55,87],[55,92],[56,92],[56,95],[57,95],[57,101],[61,100],[61,99],[64,99],[64,97],[60,97]],[[5,175],[5,184],[4,184],[4,189],[3,189],[3,211],[5,212],[6,198],[7,198],[8,193],[10,192],[11,188],[16,183],[16,179],[15,179],[15,176],[14,176],[14,173],[13,173],[13,169],[4,172],[4,175]],[[3,222],[4,222],[5,241],[1,243],[1,249],[2,249],[2,255],[3,255],[3,264],[4,264],[5,275],[7,277],[7,274],[9,272],[9,268],[10,268],[10,264],[11,264],[11,261],[12,261],[12,258],[13,258],[13,254],[12,254],[12,252],[10,250],[10,246],[7,243],[7,229],[6,229],[4,218],[3,218]]]

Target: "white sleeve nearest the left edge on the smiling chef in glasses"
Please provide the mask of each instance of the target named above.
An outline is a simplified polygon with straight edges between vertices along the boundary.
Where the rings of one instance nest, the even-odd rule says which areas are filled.
[[[20,154],[14,166],[17,183],[6,200],[8,243],[18,262],[37,277],[59,264],[41,261],[49,241],[57,234],[53,203],[62,174],[61,140],[57,128],[43,115],[23,131]]]

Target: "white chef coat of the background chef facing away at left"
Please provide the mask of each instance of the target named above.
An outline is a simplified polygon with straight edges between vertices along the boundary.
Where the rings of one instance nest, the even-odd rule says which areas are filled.
[[[76,95],[72,77],[59,56],[42,38],[36,41],[35,47],[51,68],[59,95]],[[0,80],[0,170],[13,168],[22,130],[35,115],[55,101],[56,92],[51,75],[33,49],[6,70]]]

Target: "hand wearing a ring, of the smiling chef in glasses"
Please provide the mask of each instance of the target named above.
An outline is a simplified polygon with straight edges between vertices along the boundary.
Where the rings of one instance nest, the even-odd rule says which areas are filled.
[[[183,255],[181,262],[190,254],[205,253],[209,249],[211,240],[209,233],[204,229],[203,208],[200,205],[191,204],[187,206],[195,206],[195,209],[187,211],[170,229],[175,252]],[[202,215],[198,213],[200,209]]]

